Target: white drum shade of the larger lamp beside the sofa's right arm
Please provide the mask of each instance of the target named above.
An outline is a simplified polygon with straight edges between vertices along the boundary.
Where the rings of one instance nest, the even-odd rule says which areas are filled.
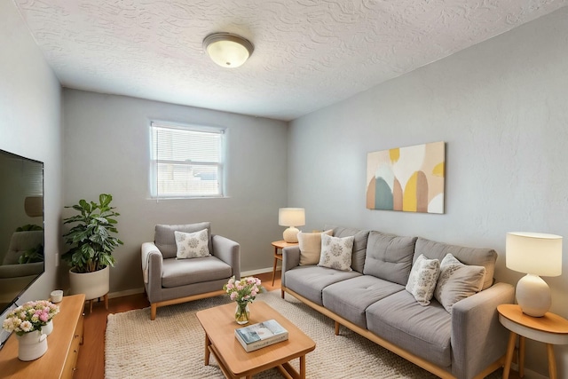
[[[562,237],[555,234],[507,233],[506,265],[517,272],[541,276],[562,274]]]

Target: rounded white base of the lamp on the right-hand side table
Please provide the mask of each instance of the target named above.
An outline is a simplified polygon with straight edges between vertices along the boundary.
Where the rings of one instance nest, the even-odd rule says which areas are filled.
[[[540,276],[527,273],[517,283],[517,303],[523,313],[533,317],[542,317],[552,305],[550,288]]]

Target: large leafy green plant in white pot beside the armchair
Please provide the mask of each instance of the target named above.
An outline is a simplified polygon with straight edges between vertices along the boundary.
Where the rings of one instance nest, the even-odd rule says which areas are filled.
[[[63,219],[75,224],[63,234],[71,248],[61,258],[71,266],[69,281],[72,294],[85,294],[86,300],[104,296],[109,289],[109,267],[114,266],[113,251],[122,245],[114,234],[115,217],[120,214],[110,206],[113,196],[99,195],[99,202],[80,200],[70,207],[79,214]]]

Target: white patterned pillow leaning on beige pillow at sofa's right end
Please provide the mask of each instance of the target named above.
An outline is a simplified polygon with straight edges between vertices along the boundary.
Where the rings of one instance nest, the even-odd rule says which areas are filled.
[[[412,266],[406,290],[414,296],[418,304],[426,306],[434,296],[439,274],[440,261],[428,259],[421,254]]]

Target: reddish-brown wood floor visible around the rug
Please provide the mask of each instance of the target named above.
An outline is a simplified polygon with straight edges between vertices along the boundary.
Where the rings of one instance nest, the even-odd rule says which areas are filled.
[[[272,272],[256,274],[268,291],[280,288],[280,271],[276,272],[276,280],[272,286]],[[110,313],[126,312],[150,306],[144,294],[116,297],[108,300],[108,310],[101,301],[92,306],[85,305],[84,338],[79,349],[77,370],[74,379],[101,379],[105,377],[105,331],[106,316]],[[158,309],[160,317],[160,309]],[[148,319],[149,320],[149,319]]]

